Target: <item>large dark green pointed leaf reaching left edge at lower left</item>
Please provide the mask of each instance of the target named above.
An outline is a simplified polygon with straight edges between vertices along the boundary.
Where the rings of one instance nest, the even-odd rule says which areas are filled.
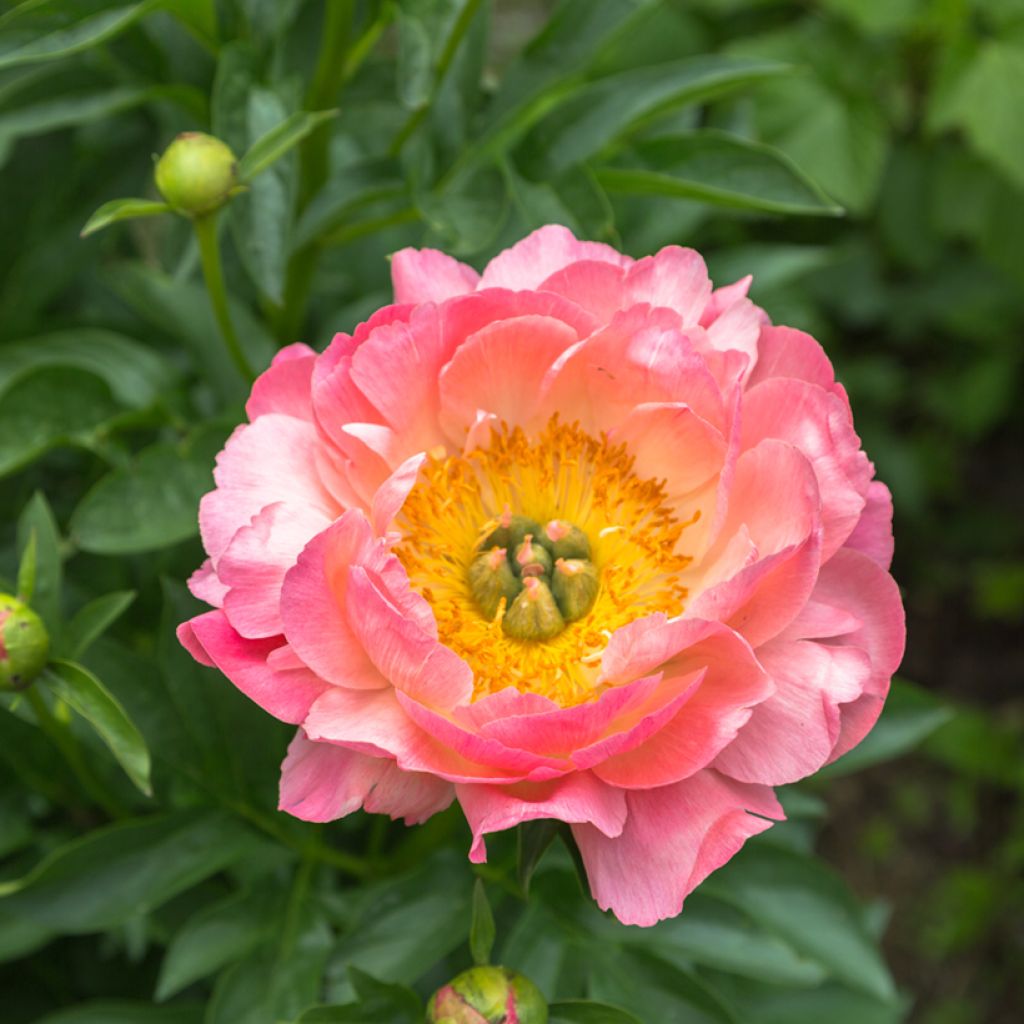
[[[178,811],[96,828],[0,884],[0,913],[81,935],[146,913],[259,849],[237,818]]]

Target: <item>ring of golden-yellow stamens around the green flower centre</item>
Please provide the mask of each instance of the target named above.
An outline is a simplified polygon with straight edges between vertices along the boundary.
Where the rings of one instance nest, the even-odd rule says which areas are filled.
[[[600,573],[591,610],[549,640],[506,635],[504,599],[488,621],[473,598],[469,566],[509,509],[578,525]],[[514,686],[565,707],[598,695],[601,651],[615,630],[682,611],[690,558],[679,542],[692,521],[676,517],[664,481],[635,474],[625,444],[554,417],[536,437],[503,425],[485,449],[431,454],[398,517],[395,553],[430,602],[441,642],[473,669],[474,697]]]

